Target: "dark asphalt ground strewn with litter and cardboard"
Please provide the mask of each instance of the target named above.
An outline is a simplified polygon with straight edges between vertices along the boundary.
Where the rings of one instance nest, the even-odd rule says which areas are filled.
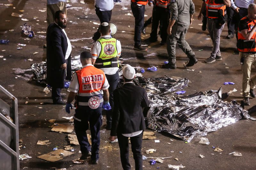
[[[79,3],[78,0],[71,0],[68,4],[72,7],[67,12],[68,27],[67,34],[72,44],[71,55],[77,56],[86,48],[91,48],[92,35],[97,30],[99,23],[94,11],[92,1],[85,1],[85,4]],[[122,0],[121,4],[114,6],[112,11],[111,21],[118,26],[118,32],[115,38],[119,39],[122,44],[122,57],[124,62],[132,66],[140,66],[148,68],[151,66],[158,67],[156,72],[146,71],[144,77],[163,77],[177,76],[188,78],[189,86],[186,87],[185,94],[192,94],[199,91],[218,90],[222,86],[224,92],[229,92],[234,88],[237,89],[227,99],[227,101],[242,100],[242,72],[236,53],[236,39],[226,39],[227,26],[221,34],[220,50],[222,61],[206,64],[204,60],[210,56],[212,41],[209,39],[207,31],[202,31],[201,21],[197,20],[197,15],[200,10],[201,0],[194,0],[196,5],[195,20],[190,26],[186,39],[191,48],[195,51],[198,63],[191,67],[194,71],[184,69],[183,63],[188,61],[187,56],[177,46],[177,69],[168,70],[162,69],[164,61],[167,61],[168,55],[166,45],[161,46],[161,38],[158,41],[149,45],[147,52],[136,52],[133,48],[133,33],[134,33],[134,18],[132,14],[130,2]],[[4,6],[4,4],[13,4],[13,6]],[[14,9],[15,7],[15,9]],[[20,10],[24,10],[21,12]],[[43,10],[43,11],[39,11]],[[45,10],[45,11],[44,11]],[[12,12],[23,14],[21,18],[28,19],[23,21],[19,17],[12,17]],[[148,19],[152,14],[152,7],[146,6]],[[101,130],[100,143],[100,160],[98,165],[77,165],[73,164],[72,160],[78,159],[81,153],[78,146],[74,146],[75,153],[60,161],[51,163],[37,156],[52,151],[52,148],[68,145],[66,133],[52,132],[49,126],[49,119],[56,119],[57,123],[71,124],[68,120],[61,118],[62,116],[72,116],[74,110],[68,115],[65,113],[65,107],[62,105],[52,105],[50,93],[45,94],[43,89],[45,85],[37,83],[32,79],[33,72],[30,69],[30,64],[39,63],[46,59],[46,49],[43,45],[46,43],[46,1],[45,0],[0,0],[0,39],[8,39],[8,44],[0,45],[0,85],[6,88],[18,99],[19,111],[19,138],[23,140],[23,145],[26,148],[21,148],[20,154],[27,153],[31,159],[20,160],[20,169],[50,169],[67,168],[67,169],[122,169],[119,158],[118,143],[109,144],[109,130]],[[71,22],[72,21],[72,22]],[[24,23],[32,26],[32,30],[36,36],[30,40],[24,40],[27,37],[21,33],[21,27]],[[11,30],[11,31],[9,31]],[[146,39],[150,33],[150,26],[146,29],[147,34],[142,38]],[[43,32],[43,33],[42,33]],[[26,44],[21,50],[16,49],[17,44]],[[202,50],[203,49],[203,50]],[[33,54],[38,52],[37,54]],[[28,59],[33,59],[29,61]],[[201,72],[201,73],[199,73]],[[255,74],[255,68],[252,69],[252,75]],[[223,85],[223,82],[234,82],[235,85]],[[63,92],[67,92],[66,89]],[[7,100],[1,93],[2,99]],[[28,101],[28,104],[25,102]],[[251,99],[251,106],[255,105],[255,99]],[[43,103],[43,104],[40,104]],[[249,106],[249,107],[251,107]],[[39,108],[42,107],[42,108]],[[245,107],[245,108],[249,108]],[[29,115],[33,114],[33,115]],[[105,115],[104,122],[106,123]],[[252,115],[255,117],[255,115]],[[149,130],[149,129],[148,129]],[[87,133],[90,133],[89,131]],[[143,140],[142,153],[145,155],[145,150],[156,149],[156,152],[146,155],[147,157],[170,157],[164,159],[163,163],[149,165],[148,160],[143,161],[145,169],[168,169],[168,164],[186,166],[185,169],[255,169],[255,122],[251,120],[240,120],[225,128],[221,128],[215,132],[209,133],[206,137],[209,139],[209,145],[198,144],[197,139],[193,139],[191,143],[156,133],[156,137],[160,143],[155,143],[154,140]],[[173,139],[171,141],[170,139]],[[50,140],[48,146],[36,145],[38,140]],[[171,144],[167,144],[171,143]],[[219,146],[223,152],[214,152],[212,146]],[[174,151],[174,152],[171,152]],[[231,152],[241,152],[243,156],[235,157]],[[182,152],[182,153],[179,153]],[[199,154],[204,155],[200,158]],[[132,152],[130,152],[130,162],[134,169],[134,160]],[[178,158],[179,161],[174,160]]]

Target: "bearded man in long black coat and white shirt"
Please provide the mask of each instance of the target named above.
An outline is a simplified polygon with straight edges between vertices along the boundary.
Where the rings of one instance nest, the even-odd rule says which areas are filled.
[[[55,23],[47,28],[47,83],[52,87],[53,104],[66,104],[62,100],[65,94],[61,93],[65,79],[71,80],[71,43],[64,30],[67,27],[66,14],[63,11],[55,12]]]

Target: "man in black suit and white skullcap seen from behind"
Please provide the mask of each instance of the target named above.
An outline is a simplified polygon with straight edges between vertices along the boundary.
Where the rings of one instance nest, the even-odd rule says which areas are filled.
[[[123,67],[124,86],[114,91],[114,110],[109,137],[110,141],[114,141],[117,135],[121,163],[125,170],[131,169],[128,137],[132,144],[135,169],[142,169],[141,144],[143,130],[146,129],[142,110],[149,105],[146,89],[134,85],[134,77],[134,68],[126,64]]]

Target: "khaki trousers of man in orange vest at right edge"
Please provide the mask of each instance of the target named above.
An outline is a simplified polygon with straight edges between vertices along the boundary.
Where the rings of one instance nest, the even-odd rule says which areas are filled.
[[[253,89],[256,85],[256,74],[250,79],[252,65],[256,68],[256,54],[239,52],[239,59],[241,60],[242,57],[244,57],[244,64],[241,65],[243,72],[243,97],[249,97],[250,89]]]

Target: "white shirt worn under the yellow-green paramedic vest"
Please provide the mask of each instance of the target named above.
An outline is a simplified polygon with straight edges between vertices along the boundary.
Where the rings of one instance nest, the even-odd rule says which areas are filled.
[[[105,38],[105,39],[110,39],[110,35],[104,35],[101,36],[100,38]],[[117,50],[117,55],[116,56],[120,56],[121,55],[121,43],[119,40],[116,40],[116,50]],[[95,41],[92,43],[92,48],[91,48],[91,54],[92,54],[92,58],[93,59],[97,59],[100,56],[100,52],[101,52],[101,45],[99,41]],[[108,75],[113,75],[116,74],[116,71],[118,70],[118,67],[111,67],[111,68],[102,68],[100,69],[102,71],[104,71],[105,74]]]

